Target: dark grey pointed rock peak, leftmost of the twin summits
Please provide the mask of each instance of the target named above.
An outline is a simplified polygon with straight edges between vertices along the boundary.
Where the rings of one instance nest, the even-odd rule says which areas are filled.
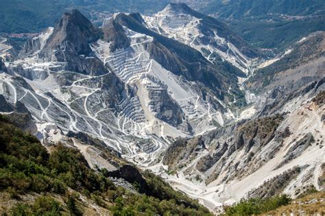
[[[91,56],[90,43],[101,36],[101,30],[94,27],[79,11],[64,13],[38,54],[45,61],[66,62],[64,69],[88,75],[108,73],[101,62]]]

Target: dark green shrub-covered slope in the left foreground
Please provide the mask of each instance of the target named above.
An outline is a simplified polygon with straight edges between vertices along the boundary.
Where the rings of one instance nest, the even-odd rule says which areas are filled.
[[[88,167],[76,149],[59,144],[49,154],[36,137],[1,115],[0,146],[0,193],[10,194],[11,199],[36,195],[32,204],[17,202],[11,215],[82,215],[80,195],[113,215],[210,215],[149,171],[144,176],[150,195],[115,187],[102,172]]]

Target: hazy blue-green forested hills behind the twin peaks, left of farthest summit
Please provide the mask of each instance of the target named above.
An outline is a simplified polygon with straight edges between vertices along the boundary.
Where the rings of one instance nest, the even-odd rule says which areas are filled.
[[[88,17],[94,19],[99,15],[96,12],[141,12],[150,14],[162,10],[167,0],[121,0],[121,1],[82,1],[82,0],[56,0],[56,1],[0,1],[0,32],[21,33],[40,32],[41,29],[54,26],[64,11],[77,8]]]

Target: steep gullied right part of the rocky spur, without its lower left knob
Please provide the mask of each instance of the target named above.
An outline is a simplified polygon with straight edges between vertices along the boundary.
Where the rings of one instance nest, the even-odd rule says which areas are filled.
[[[215,169],[213,176],[208,178],[209,182],[222,175],[226,175],[223,179],[226,182],[231,179],[249,176],[263,166],[267,160],[271,160],[278,151],[280,143],[275,145],[276,147],[274,146],[272,152],[265,153],[263,158],[258,156],[261,149],[276,136],[276,130],[281,121],[282,117],[272,116],[248,121],[248,123],[239,126],[234,130],[234,135],[226,139],[224,143],[217,143],[212,155],[205,156],[197,162],[198,169],[200,171],[207,171],[211,167]],[[236,158],[238,152],[241,152],[241,158],[236,161],[226,162],[228,158]],[[215,166],[216,163],[219,165],[226,163],[228,165],[226,168],[224,166]],[[232,173],[223,173],[226,170],[232,171]]]

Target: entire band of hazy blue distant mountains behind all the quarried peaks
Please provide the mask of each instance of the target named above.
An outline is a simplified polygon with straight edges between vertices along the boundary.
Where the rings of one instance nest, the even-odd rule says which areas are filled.
[[[71,8],[81,10],[101,25],[114,12],[154,14],[170,2],[189,3],[191,8],[226,21],[230,28],[256,47],[285,49],[301,36],[325,30],[325,3],[313,1],[242,0],[100,0],[0,2],[0,32],[39,32],[53,26]]]

